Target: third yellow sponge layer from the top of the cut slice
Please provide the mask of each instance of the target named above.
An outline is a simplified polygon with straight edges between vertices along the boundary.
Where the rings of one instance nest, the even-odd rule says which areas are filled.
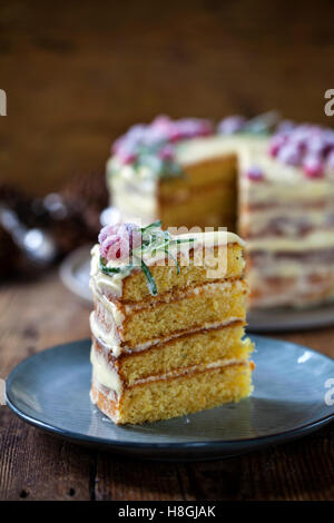
[[[126,386],[136,379],[147,378],[181,369],[191,365],[205,365],[217,359],[247,359],[253,344],[242,339],[242,322],[209,330],[195,332],[153,345],[144,351],[124,353],[118,358],[106,351],[101,341],[94,338],[96,358],[104,358],[105,365],[114,368]]]

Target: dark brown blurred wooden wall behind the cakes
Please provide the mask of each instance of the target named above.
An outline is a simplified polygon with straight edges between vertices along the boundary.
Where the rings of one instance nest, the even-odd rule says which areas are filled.
[[[0,177],[42,194],[102,170],[159,112],[332,124],[333,20],[331,0],[1,0]]]

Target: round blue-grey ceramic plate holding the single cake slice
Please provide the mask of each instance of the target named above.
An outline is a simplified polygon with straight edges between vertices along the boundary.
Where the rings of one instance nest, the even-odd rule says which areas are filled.
[[[292,343],[253,339],[255,388],[238,404],[117,426],[89,399],[89,339],[43,351],[18,365],[7,381],[7,402],[21,418],[49,433],[150,460],[232,456],[306,435],[333,420],[328,379],[334,378],[334,361]]]

